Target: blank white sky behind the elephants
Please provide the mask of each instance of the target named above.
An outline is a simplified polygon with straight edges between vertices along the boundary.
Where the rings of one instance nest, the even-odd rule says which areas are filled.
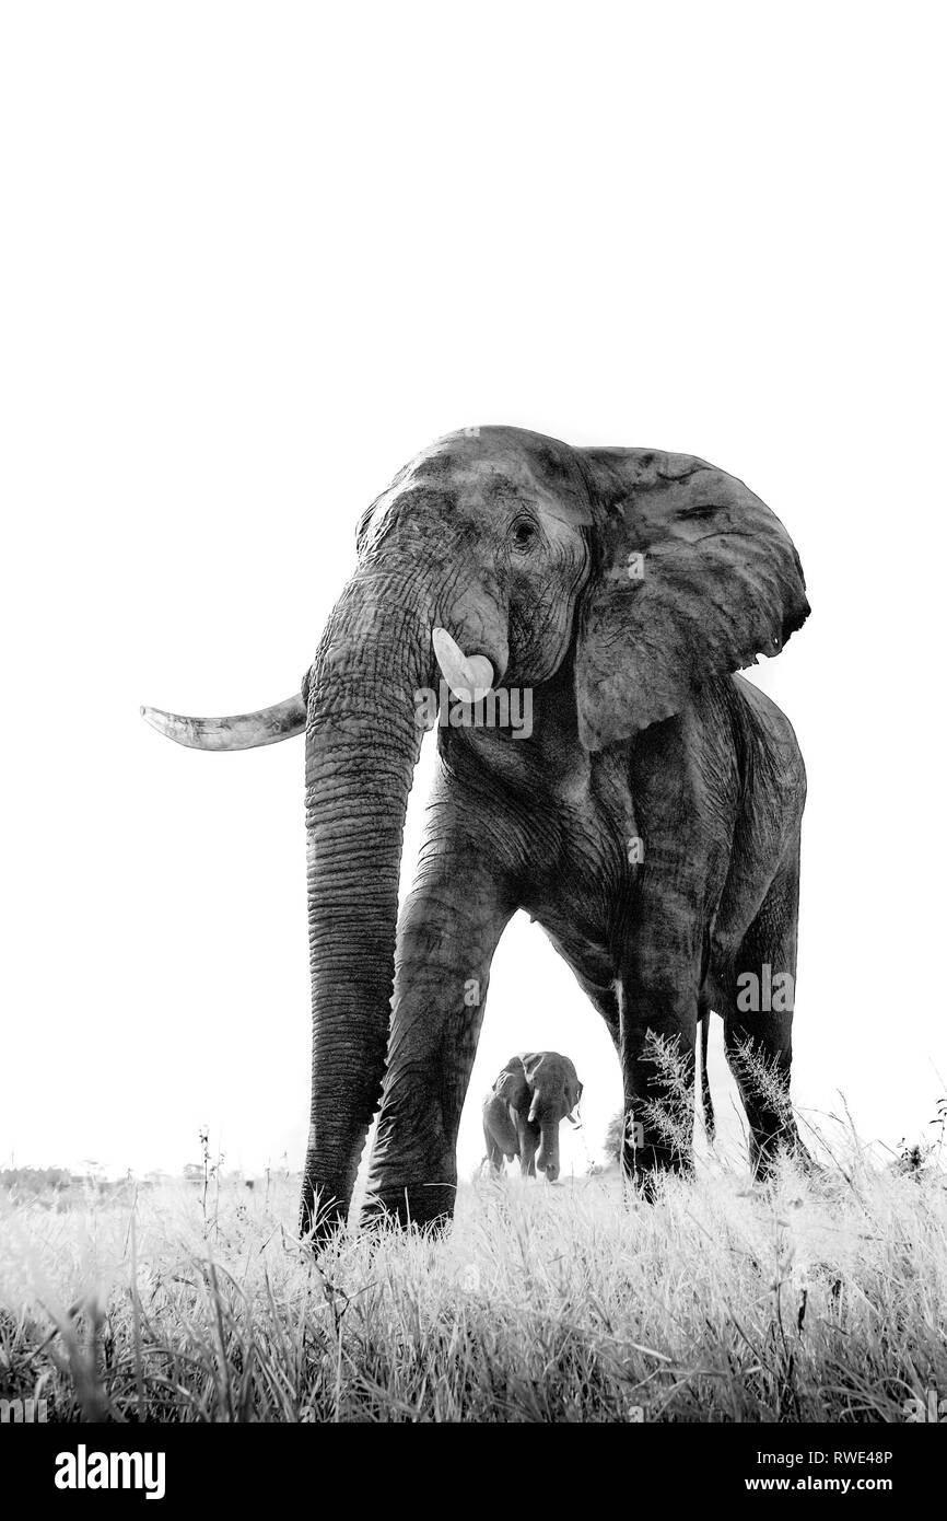
[[[476,423],[711,459],[813,614],[754,672],[810,777],[795,1091],[944,1092],[942,37],[924,5],[44,5],[0,38],[0,1167],[302,1159],[298,687],[362,508]],[[409,853],[429,771],[412,799]],[[410,859],[406,861],[406,876]],[[711,1074],[728,1109],[721,1027]],[[497,955],[479,1100],[605,1030]],[[935,1068],[939,1066],[941,1077]],[[582,1141],[567,1153],[585,1165]]]

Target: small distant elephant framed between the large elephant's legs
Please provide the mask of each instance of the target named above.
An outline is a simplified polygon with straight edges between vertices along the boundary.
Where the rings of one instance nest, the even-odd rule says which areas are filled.
[[[502,1171],[503,1157],[520,1157],[523,1177],[537,1168],[549,1183],[559,1176],[559,1124],[579,1103],[582,1084],[567,1056],[521,1051],[509,1059],[483,1100],[486,1159]]]

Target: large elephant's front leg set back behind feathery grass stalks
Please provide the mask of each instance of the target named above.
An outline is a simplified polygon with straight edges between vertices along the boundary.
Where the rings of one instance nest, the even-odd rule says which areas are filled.
[[[622,1162],[646,1192],[657,1174],[692,1165],[699,970],[689,935],[645,925],[620,980]]]

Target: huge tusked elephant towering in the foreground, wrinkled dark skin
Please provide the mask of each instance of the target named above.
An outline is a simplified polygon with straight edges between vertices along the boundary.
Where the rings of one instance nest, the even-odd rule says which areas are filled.
[[[518,908],[614,1039],[631,1173],[648,1183],[687,1162],[648,1104],[663,1089],[646,1037],[675,1042],[693,1069],[707,1007],[725,1021],[754,1165],[795,1144],[778,1095],[792,1001],[748,1010],[739,980],[795,973],[804,771],[787,719],[733,672],[781,649],[807,613],[789,535],[722,470],[467,429],[362,516],[354,575],[301,697],[226,719],[143,710],[207,750],[306,732],[304,1229],[316,1199],[321,1230],[345,1217],[378,1098],[374,1208],[420,1223],[451,1214],[489,967]],[[451,707],[398,922],[418,694],[438,666],[468,700],[486,687],[520,694],[523,712],[532,700],[532,721],[464,724]],[[746,1049],[775,1084],[752,1083]]]

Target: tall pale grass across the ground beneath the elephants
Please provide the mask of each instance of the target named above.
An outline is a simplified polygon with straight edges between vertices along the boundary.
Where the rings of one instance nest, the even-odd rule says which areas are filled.
[[[50,1419],[900,1421],[947,1392],[947,1188],[856,1142],[459,1189],[450,1234],[295,1240],[296,1180],[0,1196],[0,1396]]]

